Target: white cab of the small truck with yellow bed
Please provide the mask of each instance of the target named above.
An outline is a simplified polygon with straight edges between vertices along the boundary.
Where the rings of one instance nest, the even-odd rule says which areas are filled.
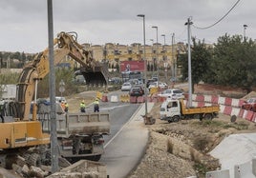
[[[181,102],[167,99],[160,105],[160,120],[178,122],[181,119]]]

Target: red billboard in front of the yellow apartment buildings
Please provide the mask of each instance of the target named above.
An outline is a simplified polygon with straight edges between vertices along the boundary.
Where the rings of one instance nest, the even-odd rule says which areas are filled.
[[[121,61],[121,71],[144,71],[144,61]]]

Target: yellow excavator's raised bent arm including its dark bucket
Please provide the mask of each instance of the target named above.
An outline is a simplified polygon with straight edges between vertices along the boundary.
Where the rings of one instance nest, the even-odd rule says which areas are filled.
[[[96,61],[90,51],[85,50],[76,42],[75,35],[67,32],[60,32],[53,40],[54,65],[66,56],[71,56],[81,66],[80,72],[86,79],[86,84],[107,84],[107,69]],[[15,118],[18,120],[29,120],[32,97],[36,92],[37,82],[43,79],[50,71],[49,49],[38,53],[35,59],[25,66],[20,74],[16,103],[14,104]]]

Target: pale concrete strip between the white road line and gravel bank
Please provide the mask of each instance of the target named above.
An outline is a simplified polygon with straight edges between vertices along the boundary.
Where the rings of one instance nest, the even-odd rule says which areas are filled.
[[[154,103],[148,103],[148,112]],[[105,160],[108,161],[107,173],[110,177],[126,177],[139,164],[148,142],[148,129],[144,127],[141,115],[145,114],[145,104],[113,137],[105,148]]]

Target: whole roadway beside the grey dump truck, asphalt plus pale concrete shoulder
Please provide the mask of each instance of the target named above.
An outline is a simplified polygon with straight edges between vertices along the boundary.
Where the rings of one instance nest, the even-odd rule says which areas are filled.
[[[148,110],[152,107],[148,105]],[[142,127],[144,121],[141,115],[144,115],[144,108],[144,104],[100,103],[100,110],[108,110],[111,118],[111,134],[104,136],[105,153],[99,160],[107,166],[110,177],[127,177],[144,155],[148,141],[148,130]]]

